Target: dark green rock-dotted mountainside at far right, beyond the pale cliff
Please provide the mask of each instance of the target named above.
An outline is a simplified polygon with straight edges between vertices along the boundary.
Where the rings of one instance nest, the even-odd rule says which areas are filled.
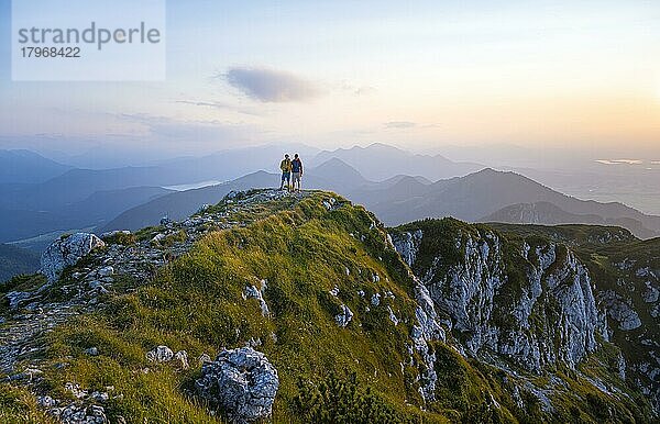
[[[640,241],[617,227],[499,225],[512,238],[568,244],[592,275],[608,338],[623,354],[620,375],[660,412],[660,238]]]

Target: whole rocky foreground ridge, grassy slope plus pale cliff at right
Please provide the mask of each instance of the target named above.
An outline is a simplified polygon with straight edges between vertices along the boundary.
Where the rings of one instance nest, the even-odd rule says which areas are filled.
[[[53,286],[40,289],[34,276],[4,288],[14,312],[0,311],[9,320],[0,337],[15,330],[19,346],[33,346],[41,338],[25,328],[30,320],[63,321],[53,345],[24,360],[14,342],[0,348],[16,381],[0,383],[0,411],[47,416],[45,391],[61,413],[218,422],[216,411],[235,415],[196,401],[199,365],[187,358],[207,354],[208,362],[219,352],[220,360],[248,346],[278,371],[274,421],[653,421],[657,391],[644,397],[649,382],[635,378],[654,368],[630,355],[650,355],[645,341],[657,332],[647,312],[660,287],[657,241],[585,225],[506,228],[452,219],[385,228],[334,193],[249,190],[182,222],[108,235]],[[594,246],[612,255],[607,264],[628,257],[607,271],[615,286]],[[652,300],[635,298],[628,314],[616,312],[630,295],[616,288],[624,270],[636,287],[649,280]],[[81,313],[66,315],[67,304]],[[150,359],[168,350],[177,359]],[[62,360],[68,366],[56,367]],[[23,367],[37,377],[20,377]],[[26,402],[33,390],[41,398]]]

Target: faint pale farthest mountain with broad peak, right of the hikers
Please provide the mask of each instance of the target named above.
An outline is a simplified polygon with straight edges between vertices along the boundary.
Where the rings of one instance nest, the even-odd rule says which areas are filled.
[[[367,147],[323,150],[314,158],[312,163],[322,164],[331,158],[345,161],[372,181],[383,181],[397,175],[421,176],[436,181],[464,176],[484,168],[479,164],[454,163],[440,155],[416,155],[381,143]]]

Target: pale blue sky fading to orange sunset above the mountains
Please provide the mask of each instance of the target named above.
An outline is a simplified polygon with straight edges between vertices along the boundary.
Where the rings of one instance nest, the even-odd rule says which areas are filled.
[[[244,3],[169,1],[164,82],[12,82],[0,0],[0,148],[384,142],[660,159],[660,1]]]

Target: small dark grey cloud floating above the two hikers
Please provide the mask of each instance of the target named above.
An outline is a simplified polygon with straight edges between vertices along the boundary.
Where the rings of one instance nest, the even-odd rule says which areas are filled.
[[[305,102],[321,94],[316,83],[282,70],[233,67],[223,77],[232,87],[262,102]]]

